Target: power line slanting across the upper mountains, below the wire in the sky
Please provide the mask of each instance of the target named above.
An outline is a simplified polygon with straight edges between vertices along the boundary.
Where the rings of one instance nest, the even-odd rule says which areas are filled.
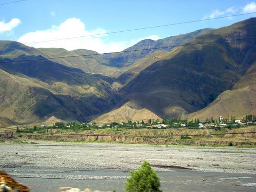
[[[155,49],[167,49],[174,47],[184,47],[184,46],[194,46],[194,45],[203,45],[203,44],[214,44],[219,42],[230,42],[236,40],[245,40],[245,39],[254,39],[254,37],[245,37],[245,38],[237,38],[237,39],[229,39],[229,40],[220,40],[220,41],[207,41],[207,42],[198,42],[195,44],[183,44],[183,45],[174,45],[174,46],[166,46],[166,47],[158,47],[158,48],[146,48],[146,49],[136,49],[136,50],[126,50],[126,51],[118,51],[118,52],[109,52],[109,53],[94,53],[94,54],[86,54],[86,55],[73,55],[73,56],[62,56],[62,57],[51,57],[51,58],[40,58],[40,59],[28,59],[28,60],[17,60],[17,61],[4,61],[2,63],[15,63],[15,62],[27,62],[27,61],[38,61],[38,60],[51,60],[51,59],[63,59],[63,58],[73,58],[73,57],[85,57],[85,56],[96,56],[96,55],[104,55],[104,54],[114,54],[114,53],[128,53],[135,51],[145,51],[145,50],[155,50]]]

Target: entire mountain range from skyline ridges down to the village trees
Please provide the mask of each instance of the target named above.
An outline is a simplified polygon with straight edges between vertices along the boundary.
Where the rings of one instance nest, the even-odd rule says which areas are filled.
[[[255,23],[145,39],[111,54],[0,41],[0,118],[122,122],[255,114]]]

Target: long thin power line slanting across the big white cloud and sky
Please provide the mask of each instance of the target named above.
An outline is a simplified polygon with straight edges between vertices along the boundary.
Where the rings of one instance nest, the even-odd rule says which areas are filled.
[[[137,29],[128,29],[128,30],[121,30],[121,31],[113,31],[113,32],[106,32],[106,33],[98,33],[98,34],[92,34],[92,35],[83,35],[83,36],[77,36],[77,37],[67,37],[67,38],[43,40],[43,41],[36,41],[36,42],[25,42],[24,44],[37,44],[39,42],[50,42],[50,41],[67,40],[67,39],[74,39],[74,38],[81,38],[81,37],[91,37],[91,36],[98,36],[98,35],[106,35],[106,34],[113,34],[113,33],[123,33],[123,32],[129,32],[129,31],[138,31],[138,30],[143,30],[143,29],[152,29],[152,28],[167,27],[167,26],[173,26],[173,25],[181,25],[181,24],[203,22],[205,20],[214,20],[214,19],[234,17],[234,16],[242,16],[242,15],[248,15],[248,14],[254,14],[254,13],[256,13],[256,12],[236,14],[236,15],[229,15],[229,16],[222,16],[222,17],[215,17],[215,18],[205,18],[205,19],[199,19],[199,20],[190,20],[188,22],[173,23],[173,24],[166,24],[166,25],[159,25],[159,26],[150,26],[150,27],[143,27],[143,28],[137,28]]]

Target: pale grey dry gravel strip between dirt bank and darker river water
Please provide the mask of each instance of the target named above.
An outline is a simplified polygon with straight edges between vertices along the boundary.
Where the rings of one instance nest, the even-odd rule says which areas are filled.
[[[80,169],[137,168],[143,161],[159,171],[182,166],[204,172],[256,173],[253,148],[214,148],[190,146],[149,146],[128,144],[40,144],[0,145],[0,166],[36,166]],[[159,165],[164,165],[163,168]]]

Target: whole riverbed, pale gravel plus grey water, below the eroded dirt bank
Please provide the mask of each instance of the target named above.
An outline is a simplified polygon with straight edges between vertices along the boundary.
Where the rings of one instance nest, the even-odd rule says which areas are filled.
[[[214,186],[239,191],[242,186],[235,184],[256,183],[256,150],[253,148],[40,142],[5,143],[0,145],[0,152],[0,169],[35,187],[36,191],[54,191],[53,183],[63,186],[69,182],[80,188],[87,187],[82,185],[87,183],[101,189],[100,183],[104,183],[109,189],[113,186],[123,189],[129,177],[127,172],[138,168],[144,160],[158,172],[165,191],[170,186],[175,186],[177,191],[186,190],[182,188],[185,186],[194,186],[195,190]],[[39,190],[42,182],[48,183],[48,190]],[[205,186],[200,189],[201,184]],[[246,188],[247,191],[253,189]]]

